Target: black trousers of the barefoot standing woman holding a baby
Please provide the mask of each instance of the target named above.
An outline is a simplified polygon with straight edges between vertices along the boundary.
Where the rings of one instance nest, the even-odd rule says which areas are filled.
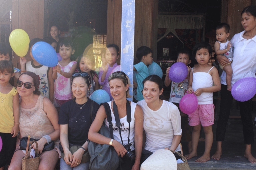
[[[216,129],[216,140],[224,141],[226,126],[230,114],[233,97],[231,92],[227,90],[227,85],[221,84],[220,90],[220,115]],[[243,124],[244,143],[254,143],[253,123],[252,123],[252,99],[246,102],[239,102],[240,115]]]

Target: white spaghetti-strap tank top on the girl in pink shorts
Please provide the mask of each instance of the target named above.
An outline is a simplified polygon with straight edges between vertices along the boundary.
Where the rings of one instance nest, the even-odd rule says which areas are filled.
[[[212,76],[209,74],[211,69],[207,73],[206,72],[194,73],[194,69],[192,68],[192,72],[193,72],[192,88],[194,91],[196,91],[199,88],[211,87],[213,85]],[[197,100],[199,105],[213,104],[213,93],[203,92],[200,96],[197,96]]]

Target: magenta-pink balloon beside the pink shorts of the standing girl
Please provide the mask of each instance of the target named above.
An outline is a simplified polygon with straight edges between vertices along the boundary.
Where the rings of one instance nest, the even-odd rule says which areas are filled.
[[[181,112],[190,115],[196,111],[198,106],[197,97],[194,94],[186,94],[180,100],[180,110]]]

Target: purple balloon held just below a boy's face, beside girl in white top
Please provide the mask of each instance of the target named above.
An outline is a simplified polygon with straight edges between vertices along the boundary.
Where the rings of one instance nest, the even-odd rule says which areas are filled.
[[[169,78],[173,82],[182,82],[188,75],[188,68],[183,62],[176,62],[172,64],[169,71]]]

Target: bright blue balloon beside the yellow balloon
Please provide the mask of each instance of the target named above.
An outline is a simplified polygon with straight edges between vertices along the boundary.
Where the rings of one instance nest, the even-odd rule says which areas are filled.
[[[57,53],[47,42],[35,43],[31,51],[34,59],[42,65],[54,67],[58,64]]]

